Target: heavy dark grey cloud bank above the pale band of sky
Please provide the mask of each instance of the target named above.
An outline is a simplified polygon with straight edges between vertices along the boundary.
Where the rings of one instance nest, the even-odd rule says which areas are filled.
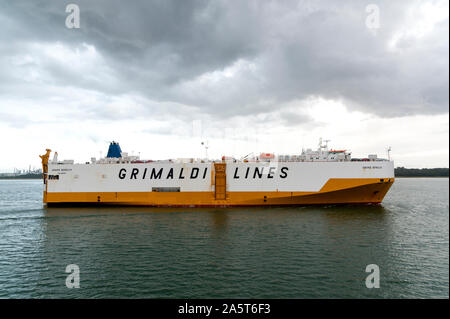
[[[43,86],[75,87],[139,96],[143,115],[167,102],[160,112],[184,104],[217,118],[314,96],[388,117],[448,112],[448,18],[420,38],[405,33],[418,2],[375,2],[376,33],[359,1],[73,2],[80,29],[65,27],[64,1],[2,2],[0,94],[45,99]],[[39,52],[54,43],[94,48],[98,58],[82,69]],[[90,106],[89,114],[108,112]]]

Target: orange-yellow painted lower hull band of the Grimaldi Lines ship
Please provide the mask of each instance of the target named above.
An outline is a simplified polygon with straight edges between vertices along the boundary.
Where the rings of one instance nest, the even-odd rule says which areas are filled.
[[[387,179],[330,179],[319,192],[44,192],[44,202],[141,206],[267,206],[380,203],[393,184]]]

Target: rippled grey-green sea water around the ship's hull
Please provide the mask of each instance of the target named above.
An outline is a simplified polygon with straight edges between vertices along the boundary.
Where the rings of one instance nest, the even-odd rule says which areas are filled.
[[[45,208],[42,181],[0,180],[0,298],[448,297],[448,178],[398,178],[382,205],[236,209]]]

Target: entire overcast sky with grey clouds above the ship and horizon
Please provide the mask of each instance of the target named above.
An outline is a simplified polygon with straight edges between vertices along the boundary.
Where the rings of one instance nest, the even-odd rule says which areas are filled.
[[[77,4],[80,28],[66,26]],[[372,4],[372,6],[371,6]],[[373,6],[375,5],[375,6]],[[109,141],[151,159],[449,166],[448,1],[0,0],[0,171]],[[69,19],[71,22],[74,20]]]

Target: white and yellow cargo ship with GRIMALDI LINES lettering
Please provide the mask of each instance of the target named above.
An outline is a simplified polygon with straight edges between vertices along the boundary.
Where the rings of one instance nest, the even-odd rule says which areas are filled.
[[[142,160],[111,142],[107,156],[86,163],[42,159],[43,202],[141,206],[296,206],[377,204],[394,183],[394,163],[369,155],[352,158],[328,148],[298,155],[261,153],[236,159],[223,156]],[[389,156],[388,156],[389,157]]]

